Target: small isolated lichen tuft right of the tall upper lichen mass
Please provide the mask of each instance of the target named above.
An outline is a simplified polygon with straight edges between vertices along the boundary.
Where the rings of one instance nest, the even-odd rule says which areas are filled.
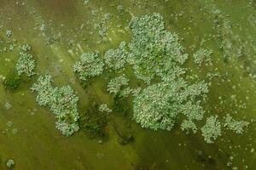
[[[212,64],[212,50],[200,48],[198,51],[193,54],[194,62],[196,65],[201,66],[203,63]]]

